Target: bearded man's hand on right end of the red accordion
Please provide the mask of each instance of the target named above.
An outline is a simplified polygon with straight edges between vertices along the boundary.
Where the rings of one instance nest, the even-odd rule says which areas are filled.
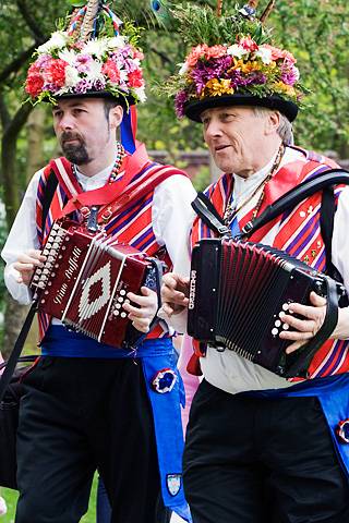
[[[133,327],[141,332],[148,332],[158,308],[157,294],[147,287],[141,287],[141,292],[142,295],[128,292],[127,297],[135,306],[128,302],[122,306],[129,313],[128,318]]]

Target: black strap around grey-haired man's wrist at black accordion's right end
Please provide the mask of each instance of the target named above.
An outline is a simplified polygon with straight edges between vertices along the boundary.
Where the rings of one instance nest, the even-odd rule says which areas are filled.
[[[286,378],[291,378],[306,370],[315,352],[325,343],[334,331],[338,321],[338,293],[335,280],[325,278],[326,284],[326,316],[324,323],[316,335],[303,348],[299,349],[301,355],[289,367],[285,374]]]

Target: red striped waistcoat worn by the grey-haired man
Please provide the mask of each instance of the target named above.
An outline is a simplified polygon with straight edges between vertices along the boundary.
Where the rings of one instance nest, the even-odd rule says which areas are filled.
[[[265,186],[264,200],[260,212],[278,199],[282,194],[304,180],[310,180],[321,172],[338,167],[330,159],[313,151],[300,149],[305,156],[305,161],[292,161],[281,167]],[[227,200],[232,190],[232,177],[224,174],[216,183],[207,188],[207,196],[216,209],[224,215]],[[344,186],[335,190],[336,206],[338,196]],[[320,229],[320,208],[322,193],[316,193],[306,198],[290,211],[267,223],[254,234],[250,241],[263,243],[264,236],[275,228],[276,236],[273,246],[282,250],[316,270],[326,271],[326,257],[324,241]],[[252,219],[253,209],[239,221],[240,229]],[[192,246],[202,239],[214,236],[214,233],[196,218],[192,229]],[[349,340],[327,340],[314,355],[310,368],[309,378],[332,376],[349,372]],[[203,355],[198,346],[195,346],[197,356]],[[302,378],[292,378],[291,381],[300,381]]]

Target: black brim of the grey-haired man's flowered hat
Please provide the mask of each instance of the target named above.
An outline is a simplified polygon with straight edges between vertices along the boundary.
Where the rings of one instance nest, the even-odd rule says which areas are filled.
[[[279,96],[268,96],[261,98],[253,95],[222,95],[204,98],[202,100],[191,100],[184,106],[184,113],[190,120],[201,122],[201,113],[206,109],[224,106],[257,106],[266,107],[280,111],[285,117],[292,122],[298,114],[298,106],[290,100],[280,98]]]

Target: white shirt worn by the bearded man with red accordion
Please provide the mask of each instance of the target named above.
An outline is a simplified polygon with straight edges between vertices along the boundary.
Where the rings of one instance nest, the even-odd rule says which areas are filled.
[[[92,191],[104,186],[109,178],[113,163],[94,177],[85,177],[76,172],[77,181],[83,191]],[[19,272],[13,268],[19,254],[40,248],[36,232],[36,198],[37,187],[43,170],[37,171],[28,184],[20,210],[15,217],[8,240],[1,252],[7,266],[4,281],[14,300],[22,304],[31,303],[31,293],[24,283],[17,283]],[[156,241],[166,245],[173,264],[182,273],[190,270],[189,232],[193,221],[191,202],[196,191],[191,181],[174,174],[155,187],[152,219]],[[60,324],[53,318],[55,324]]]

